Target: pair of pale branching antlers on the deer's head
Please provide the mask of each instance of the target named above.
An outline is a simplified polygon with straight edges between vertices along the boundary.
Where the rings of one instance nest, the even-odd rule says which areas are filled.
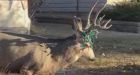
[[[98,3],[98,0],[96,0],[95,4],[93,5],[93,7],[91,8],[91,10],[90,10],[90,12],[88,14],[87,25],[85,27],[86,30],[89,29],[91,27],[91,25],[92,25],[92,23],[91,23],[91,14],[92,14],[93,10],[95,9],[97,3]],[[95,18],[93,20],[93,25],[98,26],[98,27],[100,27],[102,29],[109,29],[112,26],[112,25],[108,25],[111,22],[111,19],[109,19],[107,22],[104,22],[103,18],[105,17],[105,15],[98,19],[99,14],[105,8],[105,6],[106,6],[106,4],[96,13]]]

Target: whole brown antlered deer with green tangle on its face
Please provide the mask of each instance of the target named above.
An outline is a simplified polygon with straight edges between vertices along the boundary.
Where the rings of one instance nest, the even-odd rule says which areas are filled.
[[[90,61],[95,59],[93,51],[93,38],[88,38],[92,28],[97,26],[101,29],[108,29],[111,20],[103,22],[103,17],[98,19],[102,7],[93,21],[91,13],[95,9],[98,0],[91,8],[87,24],[84,27],[80,17],[73,18],[73,35],[63,39],[34,39],[29,35],[25,37],[16,34],[0,33],[0,69],[3,72],[15,72],[21,75],[55,75],[59,70],[75,63],[79,58],[85,57]],[[93,23],[92,23],[93,22]],[[96,31],[95,31],[96,32]],[[22,37],[21,37],[22,36]],[[42,41],[43,40],[43,41]],[[51,43],[57,43],[51,46]]]

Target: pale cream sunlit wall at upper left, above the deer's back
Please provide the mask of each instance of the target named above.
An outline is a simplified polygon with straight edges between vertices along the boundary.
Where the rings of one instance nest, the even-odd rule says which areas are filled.
[[[29,33],[28,0],[0,0],[0,31]]]

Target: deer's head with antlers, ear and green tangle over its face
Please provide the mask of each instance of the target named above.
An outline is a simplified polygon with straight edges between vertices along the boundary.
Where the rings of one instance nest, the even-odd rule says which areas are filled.
[[[104,9],[106,4],[101,9],[99,9],[99,11],[95,14],[95,17],[93,18],[93,21],[91,21],[91,14],[95,9],[97,3],[98,0],[96,0],[95,4],[93,5],[93,7],[91,8],[88,14],[87,25],[85,27],[82,25],[81,18],[74,16],[73,19],[74,22],[73,30],[76,36],[76,41],[80,43],[80,47],[82,48],[81,54],[82,56],[88,57],[89,59],[92,60],[95,58],[93,52],[94,39],[97,33],[95,27],[99,27],[101,29],[109,29],[112,26],[112,25],[108,25],[111,19],[105,22],[103,21],[103,18],[105,16],[98,18],[99,14]]]

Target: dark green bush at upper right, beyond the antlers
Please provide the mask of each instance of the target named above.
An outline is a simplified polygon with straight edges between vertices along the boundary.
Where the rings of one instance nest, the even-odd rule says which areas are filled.
[[[140,2],[123,1],[116,3],[112,7],[113,9],[103,11],[103,14],[106,14],[106,18],[123,21],[140,21]]]

